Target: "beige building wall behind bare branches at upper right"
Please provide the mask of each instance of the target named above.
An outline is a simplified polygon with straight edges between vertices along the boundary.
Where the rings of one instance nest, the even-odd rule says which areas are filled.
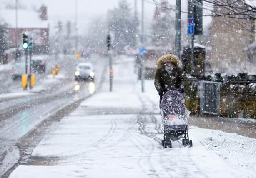
[[[250,64],[244,49],[254,42],[254,29],[254,20],[213,17],[209,59],[214,72],[247,72]]]

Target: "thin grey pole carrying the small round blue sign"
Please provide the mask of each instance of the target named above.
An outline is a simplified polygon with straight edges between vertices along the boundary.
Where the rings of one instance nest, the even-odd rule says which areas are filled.
[[[144,47],[144,0],[142,2],[142,11],[141,11],[141,45]],[[144,53],[141,55],[141,92],[144,92],[144,80],[145,80],[145,66],[144,66],[145,56]]]

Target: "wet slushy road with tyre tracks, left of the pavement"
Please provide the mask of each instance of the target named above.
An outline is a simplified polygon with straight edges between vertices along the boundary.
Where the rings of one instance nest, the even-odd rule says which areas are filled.
[[[91,59],[90,62],[97,65],[100,58],[95,58],[97,60]],[[73,81],[73,66],[79,62],[77,59],[66,57],[61,61],[62,70],[55,78],[45,74],[33,90],[17,89],[18,92],[0,95],[0,175],[19,158],[15,143],[20,138],[58,110],[90,96],[100,85],[104,62],[97,65],[98,76],[93,83]],[[75,85],[79,85],[80,90],[74,90]]]

